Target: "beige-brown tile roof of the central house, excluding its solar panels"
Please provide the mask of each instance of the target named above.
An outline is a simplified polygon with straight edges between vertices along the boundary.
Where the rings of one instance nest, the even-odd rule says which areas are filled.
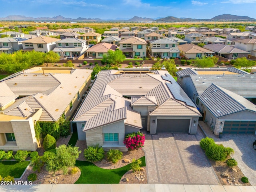
[[[185,102],[173,98],[161,75],[164,73],[120,74],[116,70],[100,71],[90,92],[74,116],[74,122],[86,121],[84,131],[124,119],[125,124],[142,128],[140,113],[132,110],[130,105],[162,105],[164,108],[164,102],[169,98],[172,98],[173,102],[179,102],[176,114],[177,110],[182,111],[186,108],[185,111],[192,111],[189,113],[190,116],[200,116],[196,108],[187,108]],[[123,96],[131,96],[131,100]],[[169,110],[172,109],[169,108]],[[159,111],[158,114],[164,115],[165,113]],[[180,113],[180,115],[184,114]]]

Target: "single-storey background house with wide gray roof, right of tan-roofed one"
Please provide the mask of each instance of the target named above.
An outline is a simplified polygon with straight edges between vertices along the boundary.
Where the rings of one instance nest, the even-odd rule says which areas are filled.
[[[224,44],[207,44],[204,48],[214,51],[216,55],[227,58],[236,59],[248,56],[249,52],[235,48],[234,46],[228,46]]]

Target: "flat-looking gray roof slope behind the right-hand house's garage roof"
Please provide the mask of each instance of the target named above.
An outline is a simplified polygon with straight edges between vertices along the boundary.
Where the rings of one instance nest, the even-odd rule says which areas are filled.
[[[190,75],[198,95],[212,83],[245,98],[256,98],[256,75]]]

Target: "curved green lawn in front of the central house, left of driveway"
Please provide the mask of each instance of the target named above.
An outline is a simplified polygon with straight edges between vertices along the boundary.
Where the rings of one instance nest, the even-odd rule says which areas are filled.
[[[142,167],[146,166],[145,156],[140,158],[142,160]],[[118,168],[118,169],[102,169],[97,167],[91,162],[88,161],[76,161],[76,166],[81,170],[81,175],[78,180],[75,182],[78,183],[104,183],[104,184],[118,184],[122,176],[131,170],[130,164]]]

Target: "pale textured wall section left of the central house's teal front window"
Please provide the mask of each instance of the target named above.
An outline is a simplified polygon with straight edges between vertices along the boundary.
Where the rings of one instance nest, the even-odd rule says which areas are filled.
[[[103,145],[102,127],[86,131],[86,144],[87,146]]]

